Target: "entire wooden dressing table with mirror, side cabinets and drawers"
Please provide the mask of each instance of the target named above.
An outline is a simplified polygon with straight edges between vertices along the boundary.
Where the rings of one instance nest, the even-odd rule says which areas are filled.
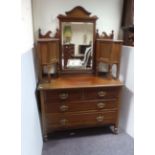
[[[113,65],[117,64],[119,66],[122,41],[113,41],[113,35],[104,37],[96,33],[97,17],[90,16],[90,14],[90,12],[78,6],[66,12],[66,15],[59,15],[60,31],[57,31],[55,37],[52,38],[54,44],[49,44],[48,39],[51,38],[47,35],[42,35],[43,37],[37,43],[38,55],[42,52],[42,56],[45,53],[47,57],[48,50],[57,53],[54,54],[54,62],[44,62],[44,66],[47,67],[46,72],[42,67],[42,59],[39,57],[40,76],[37,89],[40,96],[41,123],[45,141],[50,133],[58,130],[109,125],[113,126],[114,133],[118,132],[120,93],[123,84],[118,79],[119,67],[117,67],[115,77],[113,77],[111,70]],[[86,30],[89,30],[88,32],[84,30],[84,35],[87,35],[88,38],[88,41],[85,38],[85,43],[90,44],[91,42],[91,48],[89,47],[91,65],[82,67],[82,69],[74,66],[66,68],[68,60],[64,60],[65,57],[63,57],[63,26],[70,25],[74,30],[80,24],[81,27],[84,26]],[[78,35],[81,31],[75,33]],[[76,40],[73,38],[74,36],[76,35],[73,34],[70,40]],[[46,40],[51,48],[40,48],[42,39]],[[56,41],[53,41],[54,39]],[[106,46],[107,42],[104,42],[104,39],[108,39],[108,43],[110,43],[108,46]],[[46,41],[44,41],[45,47]],[[119,47],[116,45],[117,43]],[[76,49],[79,49],[78,46],[83,43],[74,41],[73,44],[77,46]],[[55,48],[52,48],[52,46]],[[74,57],[71,59],[81,62],[82,65],[82,62],[88,59],[85,57],[87,53],[83,56],[84,60],[77,61],[77,58]],[[52,55],[50,54],[50,56]],[[52,58],[47,58],[47,60],[52,60]],[[57,64],[57,67],[52,66],[54,63]],[[104,74],[105,76],[99,74],[99,63],[105,63],[109,66],[106,74]],[[51,67],[55,67],[57,76],[53,76],[55,73],[50,71]]]

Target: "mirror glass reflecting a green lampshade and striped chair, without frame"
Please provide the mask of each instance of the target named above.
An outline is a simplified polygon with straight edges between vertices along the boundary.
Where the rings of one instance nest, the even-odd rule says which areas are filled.
[[[62,69],[92,69],[93,23],[62,22]]]

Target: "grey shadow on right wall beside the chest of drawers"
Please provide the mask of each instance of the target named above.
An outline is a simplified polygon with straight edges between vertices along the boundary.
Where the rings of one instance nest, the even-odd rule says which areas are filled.
[[[130,118],[130,109],[131,104],[133,103],[132,100],[134,98],[134,93],[128,89],[126,86],[122,88],[121,94],[121,105],[120,105],[120,126],[123,129],[128,128],[129,118]]]

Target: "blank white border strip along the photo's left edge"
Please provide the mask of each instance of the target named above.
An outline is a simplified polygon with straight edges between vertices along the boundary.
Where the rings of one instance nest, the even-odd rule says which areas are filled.
[[[21,155],[19,0],[0,5],[0,154]]]

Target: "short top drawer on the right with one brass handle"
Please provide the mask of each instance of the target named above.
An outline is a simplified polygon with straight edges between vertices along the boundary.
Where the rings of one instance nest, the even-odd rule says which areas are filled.
[[[102,98],[116,98],[119,96],[119,88],[105,87],[105,88],[91,88],[84,91],[86,99],[102,99]]]

